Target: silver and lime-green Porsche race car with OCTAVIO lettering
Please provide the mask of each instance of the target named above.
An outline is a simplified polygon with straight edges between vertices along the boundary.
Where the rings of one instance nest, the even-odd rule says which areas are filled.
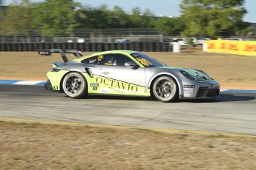
[[[45,89],[70,98],[86,95],[137,95],[171,102],[183,98],[212,98],[220,84],[199,69],[168,67],[143,52],[111,50],[83,56],[77,50],[39,49],[39,55],[60,53],[47,72]],[[68,60],[65,53],[76,59]]]

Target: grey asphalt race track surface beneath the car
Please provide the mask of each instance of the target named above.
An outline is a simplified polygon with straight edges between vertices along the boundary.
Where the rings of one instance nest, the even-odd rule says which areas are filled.
[[[71,99],[44,86],[0,84],[0,120],[256,135],[256,93],[226,91],[211,100],[162,103],[105,95]]]

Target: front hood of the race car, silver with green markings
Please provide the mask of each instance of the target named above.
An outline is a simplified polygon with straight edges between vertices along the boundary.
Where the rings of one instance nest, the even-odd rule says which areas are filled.
[[[213,78],[210,78],[209,75],[207,75],[205,72],[201,71],[200,69],[187,69],[183,67],[157,67],[161,69],[176,69],[176,70],[183,70],[185,72],[188,72],[191,75],[194,75],[197,78],[201,78],[204,81],[212,81]]]

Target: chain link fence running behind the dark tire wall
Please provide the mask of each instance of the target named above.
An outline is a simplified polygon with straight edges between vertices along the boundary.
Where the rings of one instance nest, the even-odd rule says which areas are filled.
[[[158,41],[163,42],[163,33],[160,30],[134,28],[134,29],[98,29],[98,30],[73,30],[70,35],[48,36],[38,33],[22,35],[0,35],[0,43],[118,43],[133,41]]]

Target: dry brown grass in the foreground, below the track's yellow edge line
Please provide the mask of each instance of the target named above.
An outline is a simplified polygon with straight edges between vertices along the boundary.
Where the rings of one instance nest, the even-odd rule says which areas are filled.
[[[0,169],[256,169],[255,137],[0,122]]]

